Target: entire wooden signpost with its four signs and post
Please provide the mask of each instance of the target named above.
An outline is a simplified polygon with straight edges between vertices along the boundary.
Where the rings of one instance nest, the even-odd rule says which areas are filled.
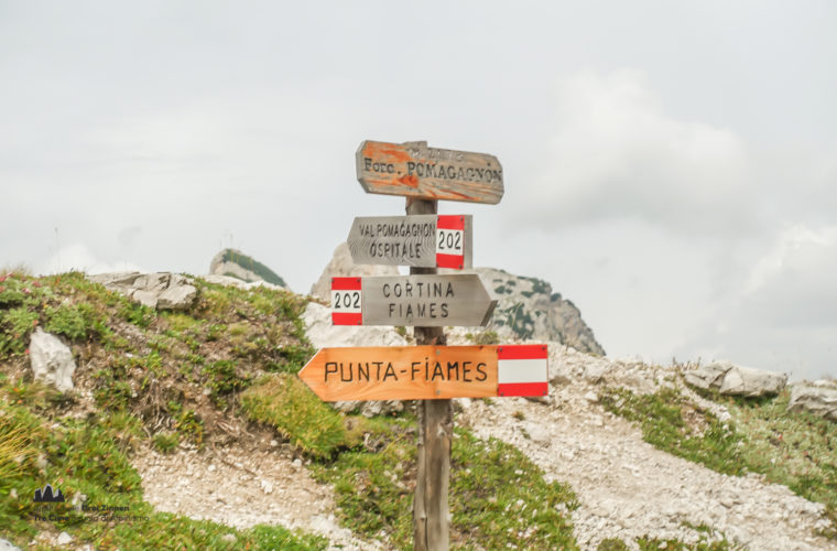
[[[323,400],[418,400],[413,542],[449,543],[447,493],[452,398],[546,396],[545,345],[446,346],[444,326],[486,325],[493,301],[471,267],[471,217],[438,216],[437,199],[497,204],[503,195],[496,156],[428,148],[427,142],[365,141],[355,156],[367,193],[403,195],[406,216],[356,218],[356,263],[410,266],[410,276],[331,280],[335,325],[413,325],[417,346],[323,348],[300,378]]]

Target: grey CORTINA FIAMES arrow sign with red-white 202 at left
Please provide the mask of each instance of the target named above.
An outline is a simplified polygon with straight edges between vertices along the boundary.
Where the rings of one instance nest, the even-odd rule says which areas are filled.
[[[486,325],[497,301],[476,273],[331,278],[334,325]]]

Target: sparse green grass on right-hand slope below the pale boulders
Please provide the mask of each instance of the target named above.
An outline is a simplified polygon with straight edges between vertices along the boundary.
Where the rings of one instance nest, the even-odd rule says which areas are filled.
[[[676,389],[637,396],[610,389],[601,396],[609,411],[635,421],[654,446],[728,475],[763,474],[795,494],[826,506],[837,537],[837,423],[787,411],[789,391],[775,398],[743,399],[704,393],[727,407],[720,422]]]

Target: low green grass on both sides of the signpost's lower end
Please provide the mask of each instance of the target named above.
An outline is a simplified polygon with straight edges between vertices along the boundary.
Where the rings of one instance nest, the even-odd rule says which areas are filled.
[[[376,451],[350,451],[315,465],[334,484],[343,522],[398,549],[412,547],[413,421],[389,422]],[[456,431],[452,446],[449,507],[452,548],[576,549],[567,510],[578,506],[568,486],[546,483],[543,472],[515,447]]]

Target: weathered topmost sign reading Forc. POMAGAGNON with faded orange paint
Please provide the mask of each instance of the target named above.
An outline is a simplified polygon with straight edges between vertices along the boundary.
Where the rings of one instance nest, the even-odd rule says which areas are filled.
[[[355,154],[367,193],[500,203],[503,169],[494,155],[428,148],[427,142],[365,141]]]

